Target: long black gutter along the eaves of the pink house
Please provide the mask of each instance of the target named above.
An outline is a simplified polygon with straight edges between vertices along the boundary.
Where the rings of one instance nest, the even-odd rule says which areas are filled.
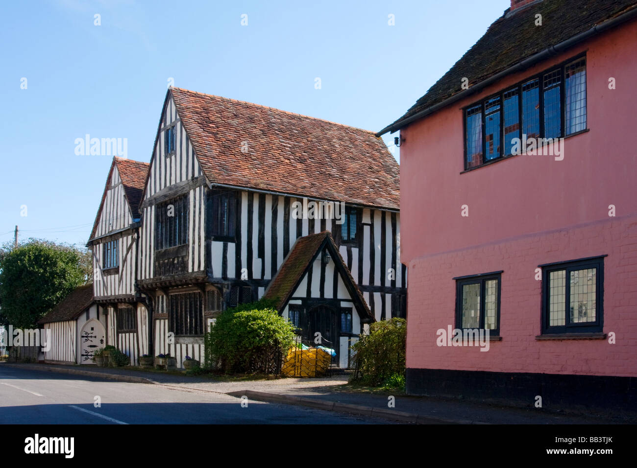
[[[554,57],[558,53],[564,52],[564,50],[576,45],[577,43],[580,43],[586,39],[589,39],[595,34],[599,34],[600,32],[606,31],[606,29],[615,27],[627,20],[631,20],[634,17],[637,17],[637,8],[633,8],[627,11],[626,13],[619,15],[618,17],[612,18],[610,20],[606,20],[605,22],[601,24],[594,25],[589,30],[580,32],[579,34],[575,34],[575,36],[566,39],[566,41],[562,41],[561,43],[558,43],[556,45],[548,46],[548,48],[546,48],[545,50],[535,53],[534,55],[531,55],[531,57],[527,57],[526,59],[518,62],[517,64],[510,66],[507,69],[497,74],[494,74],[493,76],[490,76],[489,78],[487,78],[486,80],[483,80],[480,83],[476,83],[469,89],[463,90],[459,92],[458,94],[454,94],[454,96],[448,97],[441,103],[434,104],[433,106],[429,106],[426,109],[418,111],[411,117],[404,118],[403,120],[397,120],[397,122],[394,122],[394,124],[387,125],[387,127],[382,129],[380,132],[377,132],[376,136],[382,136],[383,134],[387,132],[394,133],[400,129],[403,129],[404,127],[411,124],[412,122],[415,122],[416,120],[420,120],[421,118],[427,117],[427,115],[430,115],[440,110],[443,107],[447,107],[449,104],[453,104],[457,101],[460,101],[461,99],[464,99],[465,97],[471,96],[471,94],[474,94],[475,92],[485,89],[490,84],[497,82],[498,80],[500,80],[501,78],[505,77],[508,74],[522,71],[538,62],[541,62],[544,59],[548,59],[549,57]]]

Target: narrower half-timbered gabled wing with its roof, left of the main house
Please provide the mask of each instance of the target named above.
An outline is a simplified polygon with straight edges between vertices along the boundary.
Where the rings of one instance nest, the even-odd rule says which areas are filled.
[[[150,353],[151,318],[135,287],[141,190],[148,164],[115,157],[88,245],[93,253],[93,292],[104,317],[106,344],[129,355],[131,364]]]

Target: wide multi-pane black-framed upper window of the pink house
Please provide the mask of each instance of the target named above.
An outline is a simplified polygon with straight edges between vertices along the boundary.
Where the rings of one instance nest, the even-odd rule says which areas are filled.
[[[586,58],[554,66],[464,110],[464,169],[586,130]],[[519,145],[513,140],[517,139]],[[530,146],[529,146],[530,147]]]

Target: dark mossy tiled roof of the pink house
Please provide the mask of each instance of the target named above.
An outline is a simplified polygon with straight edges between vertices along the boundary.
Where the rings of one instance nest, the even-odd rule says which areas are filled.
[[[379,133],[394,131],[401,127],[402,120],[459,94],[464,77],[469,79],[471,90],[472,85],[636,5],[635,0],[543,0],[510,15],[507,15],[508,9],[403,117]],[[477,4],[476,8],[479,8]],[[535,25],[538,13],[542,15],[541,26]]]

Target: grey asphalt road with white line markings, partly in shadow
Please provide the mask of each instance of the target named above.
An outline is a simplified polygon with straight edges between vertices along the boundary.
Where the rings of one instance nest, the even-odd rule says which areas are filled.
[[[269,423],[387,421],[250,400],[242,405],[241,399],[225,394],[0,366],[0,424]]]

